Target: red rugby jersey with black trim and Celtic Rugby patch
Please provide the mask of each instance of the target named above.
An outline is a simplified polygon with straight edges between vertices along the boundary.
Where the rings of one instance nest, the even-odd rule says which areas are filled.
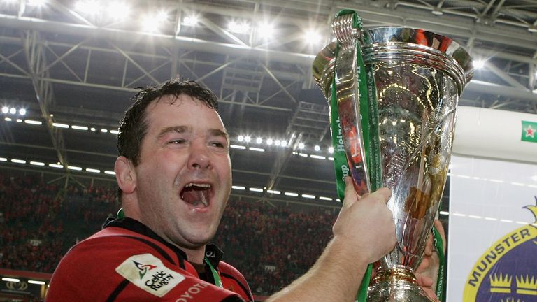
[[[67,252],[45,301],[253,301],[245,278],[220,261],[217,247],[208,245],[206,256],[224,288],[210,273],[200,276],[185,252],[141,222],[113,220]]]

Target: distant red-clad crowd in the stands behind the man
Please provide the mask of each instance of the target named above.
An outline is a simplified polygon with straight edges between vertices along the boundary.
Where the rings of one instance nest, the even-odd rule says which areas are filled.
[[[47,183],[41,175],[0,173],[0,268],[52,273],[78,240],[120,208],[114,185]],[[271,294],[306,272],[331,236],[333,209],[231,197],[215,243],[252,292]]]

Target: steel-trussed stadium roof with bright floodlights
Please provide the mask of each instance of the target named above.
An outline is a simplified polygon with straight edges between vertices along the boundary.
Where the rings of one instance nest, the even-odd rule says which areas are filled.
[[[245,147],[231,150],[234,185],[245,187],[236,194],[335,199],[328,109],[310,66],[343,8],[365,27],[466,45],[485,66],[460,105],[537,113],[535,1],[0,0],[0,164],[113,180],[113,131],[134,88],[180,76],[217,94],[232,143]]]

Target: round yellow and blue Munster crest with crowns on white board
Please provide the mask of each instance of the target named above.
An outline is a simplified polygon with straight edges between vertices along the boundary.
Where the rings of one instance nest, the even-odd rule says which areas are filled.
[[[464,287],[464,302],[537,301],[537,196],[525,206],[535,221],[515,229],[482,254]]]

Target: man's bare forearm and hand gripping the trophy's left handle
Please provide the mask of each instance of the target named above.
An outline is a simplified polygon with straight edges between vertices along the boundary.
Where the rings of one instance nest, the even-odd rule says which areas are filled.
[[[396,242],[392,212],[386,207],[389,196],[384,188],[360,198],[345,178],[345,201],[332,228],[334,238],[308,273],[267,302],[355,301],[368,264]]]

